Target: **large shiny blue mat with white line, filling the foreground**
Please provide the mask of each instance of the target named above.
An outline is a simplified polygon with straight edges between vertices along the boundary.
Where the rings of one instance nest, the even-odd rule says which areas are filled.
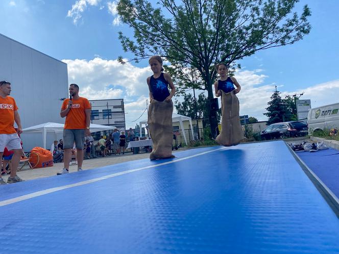
[[[338,253],[339,220],[283,141],[1,186],[1,253]]]

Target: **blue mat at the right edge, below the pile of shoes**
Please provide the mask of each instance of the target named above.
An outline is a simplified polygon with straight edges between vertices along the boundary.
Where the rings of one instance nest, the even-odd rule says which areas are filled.
[[[299,158],[339,197],[339,151],[319,150],[315,153],[297,152]]]

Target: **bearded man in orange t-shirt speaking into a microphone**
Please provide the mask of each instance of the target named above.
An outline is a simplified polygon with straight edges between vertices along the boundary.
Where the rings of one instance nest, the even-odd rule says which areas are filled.
[[[61,117],[66,117],[63,133],[64,168],[57,174],[68,173],[71,148],[74,143],[77,148],[78,171],[82,171],[85,135],[90,135],[91,105],[88,99],[79,96],[79,86],[77,84],[69,85],[69,96],[70,99],[63,101],[60,112]]]

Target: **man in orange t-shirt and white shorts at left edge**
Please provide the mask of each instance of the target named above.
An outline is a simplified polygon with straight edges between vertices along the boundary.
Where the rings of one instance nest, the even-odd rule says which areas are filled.
[[[0,159],[3,158],[5,147],[14,152],[12,157],[11,175],[7,180],[8,184],[23,181],[16,175],[16,169],[19,165],[22,153],[20,144],[21,139],[18,136],[18,134],[22,133],[22,127],[15,100],[8,96],[11,94],[11,91],[11,83],[7,81],[0,81]],[[14,121],[18,125],[17,132],[14,129]],[[0,184],[6,184],[1,175]]]

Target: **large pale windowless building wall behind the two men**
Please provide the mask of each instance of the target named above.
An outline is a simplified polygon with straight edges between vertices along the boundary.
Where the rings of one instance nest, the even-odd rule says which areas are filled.
[[[12,84],[22,128],[44,122],[64,123],[61,98],[68,97],[67,64],[0,34],[0,80]],[[49,135],[47,147],[60,135]],[[21,136],[25,151],[43,146],[37,134]]]

